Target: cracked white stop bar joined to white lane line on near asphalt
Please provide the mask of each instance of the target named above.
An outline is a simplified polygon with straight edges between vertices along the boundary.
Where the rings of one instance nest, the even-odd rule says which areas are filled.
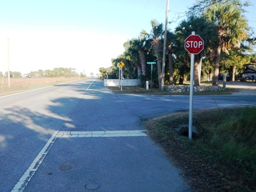
[[[90,86],[89,86],[90,87]],[[89,89],[88,87],[88,89]],[[22,175],[11,192],[22,192],[28,185],[39,165],[44,160],[53,143],[57,138],[86,138],[86,137],[141,137],[147,136],[146,130],[131,130],[131,131],[55,131],[52,137],[47,141],[43,149],[36,156],[34,161],[28,167],[27,171]]]

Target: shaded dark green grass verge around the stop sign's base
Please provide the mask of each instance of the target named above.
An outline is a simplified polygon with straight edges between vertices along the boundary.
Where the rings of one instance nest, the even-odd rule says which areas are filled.
[[[256,191],[256,107],[217,108],[193,113],[193,140],[175,131],[188,112],[145,122],[195,191]]]

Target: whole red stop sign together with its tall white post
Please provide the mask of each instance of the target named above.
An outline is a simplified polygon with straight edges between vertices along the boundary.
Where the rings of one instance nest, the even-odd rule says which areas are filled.
[[[193,121],[193,91],[194,91],[194,64],[195,54],[200,53],[204,49],[204,40],[195,35],[195,31],[185,39],[185,49],[191,54],[190,59],[190,94],[189,94],[189,128],[188,138],[192,139],[192,121]]]

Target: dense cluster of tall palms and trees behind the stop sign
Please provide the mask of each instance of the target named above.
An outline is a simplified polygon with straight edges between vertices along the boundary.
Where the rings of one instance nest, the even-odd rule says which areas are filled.
[[[241,77],[246,63],[255,63],[255,34],[244,16],[250,1],[201,0],[187,11],[187,18],[171,31],[167,29],[166,60],[163,62],[164,25],[151,20],[149,33],[142,30],[137,38],[124,43],[122,55],[112,59],[112,66],[100,68],[103,75],[118,78],[117,64],[125,63],[126,78],[139,78],[142,85],[150,80],[151,66],[147,61],[156,61],[153,68],[153,84],[183,84],[190,76],[190,54],[185,50],[185,39],[195,31],[204,40],[204,50],[195,55],[194,85],[199,86],[206,76],[212,85],[219,85],[219,73],[228,73],[231,80]],[[168,65],[163,66],[163,63]],[[164,82],[164,84],[162,83]]]

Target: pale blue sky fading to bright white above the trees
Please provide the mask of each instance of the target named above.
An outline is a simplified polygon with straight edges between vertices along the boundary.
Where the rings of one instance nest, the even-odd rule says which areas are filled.
[[[122,54],[123,44],[150,31],[150,20],[165,22],[166,0],[0,0],[0,71],[22,74],[55,67],[98,73]],[[255,0],[252,0],[255,4]],[[173,1],[169,21],[184,15],[194,0]],[[246,14],[256,29],[251,6]],[[174,29],[182,17],[168,27]]]

